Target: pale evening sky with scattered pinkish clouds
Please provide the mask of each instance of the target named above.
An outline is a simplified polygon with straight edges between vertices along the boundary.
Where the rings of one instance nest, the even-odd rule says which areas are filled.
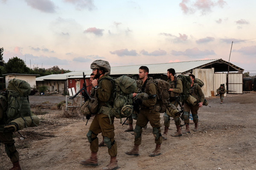
[[[0,0],[0,48],[5,62],[18,57],[29,68],[224,59],[256,73],[255,6],[255,0]]]

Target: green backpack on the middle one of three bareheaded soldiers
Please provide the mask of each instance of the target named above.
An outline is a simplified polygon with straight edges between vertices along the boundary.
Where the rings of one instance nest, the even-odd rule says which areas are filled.
[[[182,101],[186,101],[189,97],[189,89],[190,89],[190,85],[191,85],[191,78],[189,76],[185,76],[182,74],[179,74],[177,76],[178,79],[180,79],[182,81],[182,97],[181,100]]]

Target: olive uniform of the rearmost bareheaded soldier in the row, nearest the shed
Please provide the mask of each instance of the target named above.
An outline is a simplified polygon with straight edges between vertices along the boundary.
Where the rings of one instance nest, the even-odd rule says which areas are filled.
[[[191,94],[193,97],[195,97],[199,102],[204,102],[204,93],[197,83],[193,83],[192,87],[189,89],[189,94]],[[196,105],[191,105],[188,102],[184,102],[184,123],[189,124],[189,112],[191,111],[192,117],[193,117],[193,122],[198,123],[198,104]],[[185,113],[186,112],[186,113]]]

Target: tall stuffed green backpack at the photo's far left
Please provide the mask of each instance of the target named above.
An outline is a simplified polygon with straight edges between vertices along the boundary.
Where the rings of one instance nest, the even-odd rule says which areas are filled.
[[[7,122],[19,117],[31,116],[29,97],[31,87],[29,83],[20,79],[11,79],[7,87],[8,108]]]

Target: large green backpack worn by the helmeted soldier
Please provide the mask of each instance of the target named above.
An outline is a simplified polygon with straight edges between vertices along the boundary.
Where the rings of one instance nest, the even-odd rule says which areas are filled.
[[[117,119],[120,119],[120,123],[122,123],[122,118],[126,118],[133,113],[132,94],[137,87],[137,83],[134,79],[128,76],[121,76],[117,79],[105,77],[104,79],[111,80],[114,85],[113,108],[108,104],[108,102],[106,102],[106,105],[108,105],[108,108],[110,108],[108,116],[110,119],[112,116],[115,116]],[[99,86],[100,84],[101,82],[99,82]],[[105,113],[108,113],[108,111]]]

